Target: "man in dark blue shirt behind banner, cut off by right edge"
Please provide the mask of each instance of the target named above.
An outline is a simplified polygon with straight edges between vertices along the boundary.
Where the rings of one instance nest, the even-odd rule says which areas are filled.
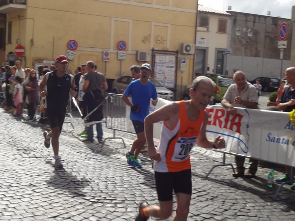
[[[295,109],[295,67],[289,67],[286,69],[285,78],[287,79],[290,86],[287,86],[285,88],[280,103],[278,105],[278,110],[290,112]],[[286,174],[283,177],[276,179],[276,183],[280,184],[291,180],[291,167],[285,166],[285,172]],[[295,190],[295,183],[291,185],[291,189]]]

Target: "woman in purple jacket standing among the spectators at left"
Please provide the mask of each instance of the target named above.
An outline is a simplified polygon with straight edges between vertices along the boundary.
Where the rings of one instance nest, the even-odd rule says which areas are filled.
[[[36,71],[33,69],[30,70],[29,82],[26,85],[25,89],[28,91],[28,103],[29,103],[29,108],[28,108],[29,118],[27,120],[32,120],[36,112],[35,105],[37,104],[37,101],[38,101],[38,79],[36,76]]]

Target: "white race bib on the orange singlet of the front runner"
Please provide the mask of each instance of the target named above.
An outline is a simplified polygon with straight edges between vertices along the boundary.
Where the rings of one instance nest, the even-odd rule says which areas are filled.
[[[174,148],[174,154],[172,157],[172,161],[184,161],[188,159],[189,152],[193,148],[193,146],[196,143],[197,137],[192,138],[178,138],[175,148]]]

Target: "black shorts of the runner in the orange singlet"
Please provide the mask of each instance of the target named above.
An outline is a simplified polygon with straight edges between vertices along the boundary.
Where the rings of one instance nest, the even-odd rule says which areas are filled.
[[[156,172],[156,188],[159,201],[170,201],[174,193],[192,194],[192,171],[190,169],[179,172]]]

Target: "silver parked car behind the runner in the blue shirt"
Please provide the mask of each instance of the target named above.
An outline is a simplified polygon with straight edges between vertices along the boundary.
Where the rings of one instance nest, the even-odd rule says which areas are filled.
[[[131,81],[132,81],[131,76],[122,76],[118,78],[112,84],[112,93],[114,94],[122,93],[124,90],[126,90],[128,84]],[[167,89],[161,83],[159,83],[157,80],[153,78],[149,78],[149,81],[151,81],[151,83],[153,83],[156,86],[158,97],[168,101],[174,100],[174,95],[171,90]]]

